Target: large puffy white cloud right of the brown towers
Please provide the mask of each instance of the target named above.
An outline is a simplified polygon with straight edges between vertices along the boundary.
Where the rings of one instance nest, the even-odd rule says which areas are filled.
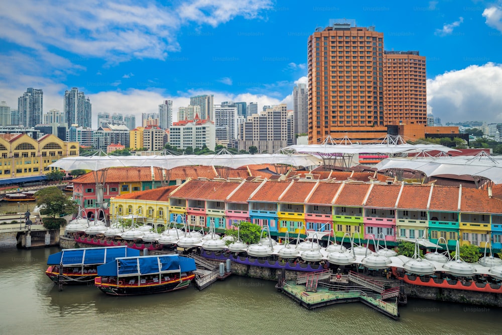
[[[502,64],[471,65],[427,80],[428,110],[445,121],[502,122]]]

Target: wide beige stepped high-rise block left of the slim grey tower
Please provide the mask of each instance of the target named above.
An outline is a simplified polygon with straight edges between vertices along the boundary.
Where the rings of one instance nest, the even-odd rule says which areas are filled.
[[[290,129],[286,104],[276,105],[266,112],[248,116],[247,121],[240,124],[236,146],[246,151],[256,146],[258,152],[273,153],[288,146],[288,140],[293,137]]]

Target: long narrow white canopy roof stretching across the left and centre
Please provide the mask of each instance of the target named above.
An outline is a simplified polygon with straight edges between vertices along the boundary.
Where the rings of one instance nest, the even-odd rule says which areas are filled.
[[[215,165],[239,168],[249,164],[287,164],[293,166],[320,165],[321,159],[310,154],[212,154],[212,155],[154,155],[154,156],[78,156],[64,157],[49,166],[63,170],[97,171],[114,166],[156,166],[173,169],[184,165]]]

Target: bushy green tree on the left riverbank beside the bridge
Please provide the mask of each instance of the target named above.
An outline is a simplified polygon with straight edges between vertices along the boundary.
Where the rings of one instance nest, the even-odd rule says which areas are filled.
[[[42,208],[40,214],[51,218],[59,218],[61,215],[74,213],[78,208],[71,198],[65,196],[63,191],[54,186],[38,191],[35,193],[35,197],[37,205]]]

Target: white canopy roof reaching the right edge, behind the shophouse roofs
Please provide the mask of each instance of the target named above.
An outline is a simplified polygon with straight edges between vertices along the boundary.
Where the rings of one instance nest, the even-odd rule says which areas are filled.
[[[386,158],[374,166],[378,171],[408,169],[426,176],[456,175],[482,177],[495,184],[502,183],[502,157],[488,155],[456,157]]]

